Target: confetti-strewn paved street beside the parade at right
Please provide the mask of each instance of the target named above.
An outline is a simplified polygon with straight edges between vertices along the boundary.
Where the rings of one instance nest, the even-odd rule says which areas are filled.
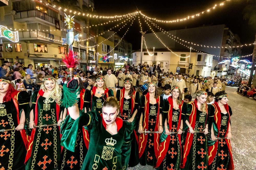
[[[240,96],[236,92],[237,87],[226,87],[229,95],[229,106],[232,109],[231,131],[232,150],[235,169],[256,169],[256,101]],[[129,170],[149,170],[151,166],[137,165]]]

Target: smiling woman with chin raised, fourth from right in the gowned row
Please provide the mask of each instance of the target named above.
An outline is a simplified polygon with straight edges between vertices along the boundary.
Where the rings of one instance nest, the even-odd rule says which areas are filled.
[[[159,137],[163,133],[163,98],[155,83],[148,83],[148,93],[140,99],[139,159],[140,164],[155,166],[158,158]],[[149,131],[149,132],[147,132]]]

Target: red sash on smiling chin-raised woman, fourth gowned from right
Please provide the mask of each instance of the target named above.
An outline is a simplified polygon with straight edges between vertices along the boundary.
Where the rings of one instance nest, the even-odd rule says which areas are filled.
[[[159,96],[156,99],[156,103],[158,103],[158,111],[157,111],[157,117],[156,117],[156,126],[155,126],[155,131],[158,131],[159,128],[159,108],[160,108],[160,100]],[[148,113],[149,112],[149,93],[145,95],[145,106],[144,106],[144,121],[143,121],[143,129],[148,129]],[[149,135],[149,134],[147,134]],[[141,158],[142,154],[145,151],[146,148],[146,143],[147,143],[147,135],[145,133],[140,134],[140,139],[139,139],[139,158]],[[156,133],[154,134],[154,151],[155,151],[155,156],[156,158],[158,157],[158,146],[159,146],[159,134]]]

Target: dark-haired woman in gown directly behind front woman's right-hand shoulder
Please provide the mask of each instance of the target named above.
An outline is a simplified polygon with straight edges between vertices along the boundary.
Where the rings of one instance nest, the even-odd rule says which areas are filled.
[[[124,79],[124,87],[123,89],[116,91],[116,98],[120,103],[120,117],[123,121],[129,122],[133,126],[133,140],[129,167],[134,167],[139,163],[137,112],[139,110],[140,94],[133,89],[132,79]]]

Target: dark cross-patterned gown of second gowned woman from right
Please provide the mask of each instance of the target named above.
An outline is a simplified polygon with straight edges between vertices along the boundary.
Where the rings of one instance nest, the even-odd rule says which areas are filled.
[[[195,121],[195,128],[194,130],[202,131],[205,129],[205,125],[209,122],[209,116],[207,114],[203,114],[201,111],[196,109],[196,121]],[[209,110],[209,108],[208,108]],[[192,105],[186,105],[186,120],[189,122],[189,117],[191,115]],[[210,113],[210,111],[208,111]],[[186,128],[186,127],[185,127]],[[190,134],[193,135],[193,134]],[[189,133],[187,133],[187,138]],[[190,147],[189,153],[187,155],[187,161],[185,163],[184,170],[190,169],[208,169],[208,152],[207,152],[207,136],[203,133],[194,133],[192,145]],[[187,150],[187,139],[185,143],[184,152]]]

